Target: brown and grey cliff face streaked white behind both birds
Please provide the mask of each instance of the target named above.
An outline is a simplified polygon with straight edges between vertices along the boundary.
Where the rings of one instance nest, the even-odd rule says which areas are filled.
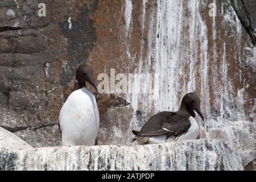
[[[131,130],[196,92],[200,137],[229,144],[243,167],[256,158],[254,1],[44,0],[39,17],[41,2],[0,2],[1,127],[33,147],[60,145],[59,111],[86,63],[95,80],[110,69],[159,80],[154,100],[137,87],[97,97],[99,144],[136,144]]]

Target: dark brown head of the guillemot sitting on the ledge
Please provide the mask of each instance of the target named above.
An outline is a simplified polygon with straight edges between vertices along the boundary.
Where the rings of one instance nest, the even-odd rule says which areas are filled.
[[[181,112],[188,112],[192,117],[195,118],[194,110],[200,115],[204,121],[203,114],[200,109],[200,98],[193,92],[185,94],[181,101],[180,109]]]

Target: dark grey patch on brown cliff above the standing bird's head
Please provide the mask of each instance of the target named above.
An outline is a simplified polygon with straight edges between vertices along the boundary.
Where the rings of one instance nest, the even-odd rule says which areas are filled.
[[[62,85],[67,85],[71,78],[75,76],[77,67],[84,63],[96,44],[96,29],[89,17],[92,11],[93,9],[89,10],[87,6],[82,6],[80,14],[77,15],[75,20],[72,20],[72,31],[69,30],[69,24],[66,21],[59,22],[63,35],[68,39],[67,51],[69,57],[61,72],[60,81]],[[68,18],[67,15],[64,16],[64,19]],[[81,50],[80,53],[77,53],[78,49]]]

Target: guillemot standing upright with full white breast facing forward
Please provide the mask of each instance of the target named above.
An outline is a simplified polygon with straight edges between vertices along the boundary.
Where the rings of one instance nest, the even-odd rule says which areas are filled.
[[[59,126],[63,146],[95,144],[100,127],[100,117],[95,97],[86,88],[89,82],[98,92],[93,81],[93,69],[80,65],[76,71],[73,92],[61,107]]]

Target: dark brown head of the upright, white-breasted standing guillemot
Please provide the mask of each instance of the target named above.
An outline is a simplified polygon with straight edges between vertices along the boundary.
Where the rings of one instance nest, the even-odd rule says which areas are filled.
[[[97,86],[93,80],[93,69],[90,68],[88,65],[83,64],[77,68],[76,83],[73,90],[77,90],[86,86],[86,82],[92,85],[98,92]]]

